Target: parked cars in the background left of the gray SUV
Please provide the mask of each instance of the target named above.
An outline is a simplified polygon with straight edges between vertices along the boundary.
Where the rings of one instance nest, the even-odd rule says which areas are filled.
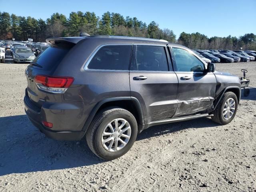
[[[41,52],[49,47],[46,43],[27,43],[27,42],[1,42],[1,52],[10,49],[14,59],[17,62],[32,62]],[[2,57],[5,58],[3,54]],[[1,60],[4,63],[4,60]]]

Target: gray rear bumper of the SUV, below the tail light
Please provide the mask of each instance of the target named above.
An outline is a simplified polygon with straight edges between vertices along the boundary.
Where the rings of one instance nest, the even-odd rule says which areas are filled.
[[[29,120],[47,137],[56,140],[82,139],[85,134],[82,128],[93,106],[91,102],[45,102],[38,108],[30,101],[27,90],[24,97],[25,112]],[[53,127],[44,126],[43,121],[51,122]]]

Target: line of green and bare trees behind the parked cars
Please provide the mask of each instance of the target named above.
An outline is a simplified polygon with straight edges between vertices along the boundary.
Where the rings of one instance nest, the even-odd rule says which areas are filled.
[[[8,12],[0,12],[0,39],[28,40],[44,42],[49,37],[79,36],[80,32],[90,35],[117,35],[164,39],[178,42],[188,48],[198,49],[244,49],[256,50],[256,35],[245,34],[240,37],[211,37],[198,32],[188,34],[182,32],[178,39],[168,28],[160,29],[154,21],[146,24],[136,17],[122,16],[119,13],[106,12],[102,17],[94,12],[71,12],[67,18],[63,14],[54,13],[47,18],[16,16]]]

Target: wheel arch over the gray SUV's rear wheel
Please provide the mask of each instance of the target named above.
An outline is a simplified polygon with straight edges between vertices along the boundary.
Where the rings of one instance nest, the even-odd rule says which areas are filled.
[[[97,112],[110,106],[121,107],[131,112],[136,118],[138,133],[142,130],[142,126],[144,125],[144,115],[138,99],[135,97],[112,97],[105,98],[94,106],[82,128],[82,131],[86,132]]]

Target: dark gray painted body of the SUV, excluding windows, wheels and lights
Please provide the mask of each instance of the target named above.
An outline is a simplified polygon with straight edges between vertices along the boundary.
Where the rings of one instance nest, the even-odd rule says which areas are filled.
[[[172,54],[172,50],[167,48],[170,69],[168,72],[84,70],[90,56],[102,44],[150,44],[164,47],[168,44],[169,47],[187,49],[178,44],[108,36],[51,38],[48,41],[68,41],[75,44],[64,59],[50,70],[42,70],[31,65],[26,70],[28,80],[24,98],[26,113],[33,124],[51,138],[80,139],[100,106],[110,101],[131,100],[140,117],[138,123],[144,129],[149,125],[171,122],[172,117],[200,113],[204,110],[210,112],[225,88],[229,86],[238,89],[238,100],[240,99],[238,77],[220,72],[200,74],[173,72],[172,69],[175,70],[176,67],[175,59],[169,55]],[[201,60],[199,57],[198,59]],[[133,60],[131,54],[130,67],[133,65]],[[206,63],[203,63],[206,66]],[[74,77],[74,82],[64,94],[50,94],[37,89],[34,83],[36,74],[71,76]],[[191,79],[181,81],[180,77],[183,75],[191,76]],[[147,79],[133,80],[136,76],[146,76]],[[189,116],[189,118],[196,117],[198,115]],[[176,120],[183,119],[186,118]],[[43,120],[52,122],[53,128],[44,127]]]

